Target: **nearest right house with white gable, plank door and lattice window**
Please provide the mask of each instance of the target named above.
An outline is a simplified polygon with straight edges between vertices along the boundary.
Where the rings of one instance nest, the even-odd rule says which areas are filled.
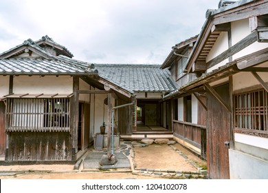
[[[188,58],[197,78],[167,97],[205,96],[208,176],[268,178],[268,1],[220,1]]]

